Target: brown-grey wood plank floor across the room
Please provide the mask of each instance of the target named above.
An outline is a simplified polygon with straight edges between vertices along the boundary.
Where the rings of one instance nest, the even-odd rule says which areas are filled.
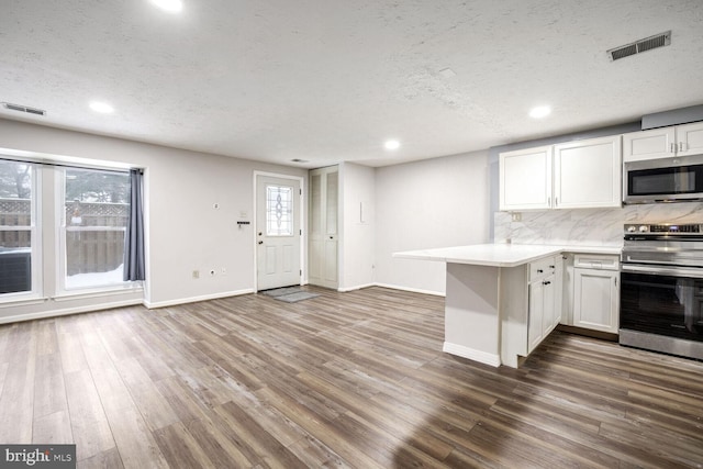
[[[703,466],[703,364],[553,333],[442,353],[444,300],[369,288],[0,326],[0,443],[79,467]]]

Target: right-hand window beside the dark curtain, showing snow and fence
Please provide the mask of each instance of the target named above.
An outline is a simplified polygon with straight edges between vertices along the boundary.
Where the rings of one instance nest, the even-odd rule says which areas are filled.
[[[130,175],[74,168],[63,171],[64,289],[123,283]]]

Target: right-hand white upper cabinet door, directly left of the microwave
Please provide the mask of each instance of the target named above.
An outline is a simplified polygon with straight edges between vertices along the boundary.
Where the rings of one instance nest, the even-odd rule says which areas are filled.
[[[554,147],[554,206],[621,206],[620,135]]]

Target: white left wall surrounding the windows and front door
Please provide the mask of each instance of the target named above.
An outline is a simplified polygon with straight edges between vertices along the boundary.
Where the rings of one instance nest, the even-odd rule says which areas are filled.
[[[306,170],[168,148],[15,121],[0,120],[0,147],[127,163],[146,168],[147,286],[149,305],[216,298],[254,289],[253,225],[237,227],[241,212],[254,221],[254,171],[304,177]],[[219,203],[220,209],[213,209]],[[54,253],[44,253],[53,256]],[[227,270],[222,275],[222,268]],[[200,279],[192,278],[200,270]],[[211,277],[209,271],[216,275]],[[51,294],[51,292],[48,292]],[[126,300],[134,302],[134,298]],[[62,303],[63,311],[110,306],[124,298]],[[2,315],[58,310],[42,304],[0,305]],[[12,310],[11,312],[9,310]]]

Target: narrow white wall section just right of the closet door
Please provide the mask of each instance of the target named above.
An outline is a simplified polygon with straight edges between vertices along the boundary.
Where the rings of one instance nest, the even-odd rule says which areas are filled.
[[[342,245],[339,290],[373,284],[376,238],[376,171],[344,163],[339,166]]]

